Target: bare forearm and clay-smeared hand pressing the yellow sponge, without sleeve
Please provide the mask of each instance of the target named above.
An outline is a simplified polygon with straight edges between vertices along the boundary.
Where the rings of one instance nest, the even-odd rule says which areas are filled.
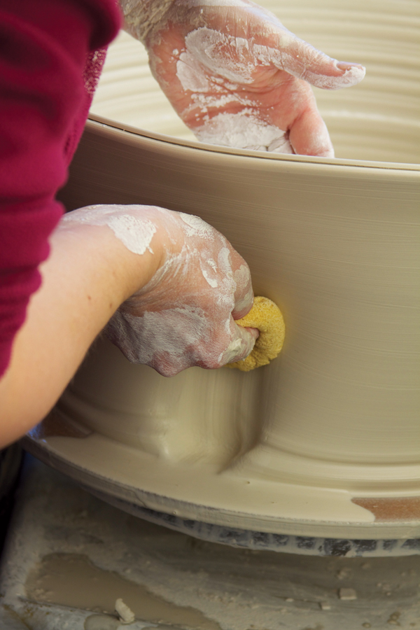
[[[116,316],[123,314],[125,328],[113,320],[113,342],[130,360],[165,375],[190,365],[219,367],[253,347],[255,333],[232,318],[252,305],[248,267],[214,228],[141,206],[69,215],[52,235],[42,286],[31,298],[0,380],[0,447],[48,413],[120,304]],[[137,245],[130,241],[132,225],[141,237]],[[216,268],[207,274],[211,259]],[[151,325],[158,335],[150,334]]]

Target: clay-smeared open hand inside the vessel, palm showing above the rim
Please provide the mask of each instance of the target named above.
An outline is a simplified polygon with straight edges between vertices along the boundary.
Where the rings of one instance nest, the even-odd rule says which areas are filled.
[[[356,85],[337,62],[248,0],[120,0],[125,28],[182,120],[210,144],[332,157],[309,83]]]

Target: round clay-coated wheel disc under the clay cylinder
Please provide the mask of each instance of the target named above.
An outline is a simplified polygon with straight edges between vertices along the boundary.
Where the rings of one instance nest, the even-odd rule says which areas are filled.
[[[116,353],[113,365],[127,363],[111,344],[103,345],[107,352]],[[103,351],[104,347],[94,349],[90,361],[96,357],[103,363]],[[133,368],[129,363],[125,367]],[[197,374],[201,372],[197,369]],[[368,498],[360,492],[362,496],[355,500],[354,493],[340,488],[336,481],[322,487],[304,476],[296,484],[294,479],[279,482],[235,470],[233,474],[218,471],[200,461],[171,462],[76,421],[74,417],[81,416],[85,405],[68,391],[27,435],[25,448],[131,514],[238,547],[349,556],[420,552],[420,498],[412,483],[408,484],[408,498],[395,491],[390,497],[386,487],[382,496]],[[118,423],[118,416],[113,416],[113,422]],[[106,426],[104,421],[99,423]]]

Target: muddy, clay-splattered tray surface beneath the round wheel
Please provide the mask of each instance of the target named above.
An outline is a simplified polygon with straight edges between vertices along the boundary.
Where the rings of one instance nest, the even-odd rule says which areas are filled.
[[[341,559],[201,542],[120,512],[41,464],[21,490],[1,568],[1,603],[31,630],[83,628],[47,624],[58,592],[61,615],[90,609],[85,630],[114,629],[116,598],[137,617],[121,627],[135,630],[151,627],[153,615],[165,630],[420,629],[419,556]]]

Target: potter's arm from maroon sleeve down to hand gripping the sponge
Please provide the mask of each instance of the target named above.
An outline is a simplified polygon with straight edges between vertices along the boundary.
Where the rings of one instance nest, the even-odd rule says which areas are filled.
[[[10,3],[0,0],[2,6]],[[54,195],[66,179],[68,139],[85,106],[81,76],[92,26],[89,11],[74,6],[73,0],[36,6],[22,0],[17,15],[10,10],[0,20],[0,31],[6,29],[0,55],[6,80],[6,97],[0,99],[0,231],[7,235],[7,246],[0,248],[6,278],[0,286],[0,447],[54,405],[120,305],[109,337],[130,360],[167,376],[190,365],[212,368],[244,358],[256,335],[234,321],[251,309],[248,267],[200,219],[145,207],[94,207],[59,221],[62,208]],[[70,10],[59,21],[69,30],[67,38],[56,32],[55,10],[63,7]],[[22,8],[29,22],[22,22]],[[115,21],[109,31],[114,27]],[[144,238],[146,217],[148,229],[153,223],[151,241],[133,246],[133,237]],[[116,228],[121,218],[128,236]],[[58,221],[39,288],[38,265],[48,257],[47,238]],[[150,334],[152,324],[157,334]]]

